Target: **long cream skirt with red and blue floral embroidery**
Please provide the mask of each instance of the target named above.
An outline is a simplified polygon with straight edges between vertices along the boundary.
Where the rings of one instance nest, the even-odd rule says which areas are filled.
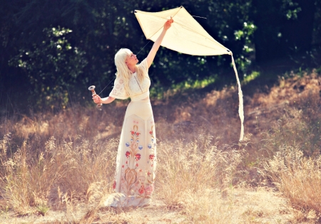
[[[146,206],[151,202],[156,171],[156,135],[150,100],[128,104],[116,159],[111,194],[104,206]]]

